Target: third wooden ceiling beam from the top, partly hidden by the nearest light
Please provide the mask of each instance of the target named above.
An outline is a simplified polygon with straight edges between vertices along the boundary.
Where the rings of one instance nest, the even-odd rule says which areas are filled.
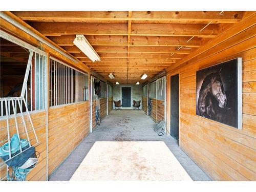
[[[74,46],[75,35],[49,36],[59,46]],[[127,46],[127,36],[92,36],[86,35],[87,40],[92,46]],[[200,47],[201,38],[194,37],[167,37],[167,36],[131,36],[130,46],[186,46]]]

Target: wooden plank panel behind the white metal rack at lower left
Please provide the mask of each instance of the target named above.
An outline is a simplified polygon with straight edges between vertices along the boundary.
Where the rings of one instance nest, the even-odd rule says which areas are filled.
[[[25,122],[27,125],[27,129],[29,132],[29,138],[31,141],[31,144],[35,144],[35,136],[32,131],[32,127],[29,123],[28,116],[25,115]],[[35,132],[37,134],[37,138],[39,140],[39,145],[36,146],[36,151],[40,153],[39,162],[36,165],[35,168],[31,170],[29,175],[27,176],[27,180],[30,181],[45,181],[46,180],[46,112],[33,112],[31,114],[31,119],[33,121],[33,125],[35,128]],[[18,123],[18,130],[20,134],[20,138],[27,139],[25,134],[25,128],[24,124],[22,123],[22,118],[20,115],[17,117],[17,123]],[[2,146],[4,143],[8,142],[7,137],[7,123],[6,120],[0,121],[0,146]],[[10,136],[12,137],[13,134],[16,133],[16,127],[15,127],[15,121],[14,118],[9,119],[9,126],[10,126]],[[0,160],[2,163],[2,159]],[[0,178],[4,178],[6,176],[6,165],[4,164],[2,167],[0,167]]]

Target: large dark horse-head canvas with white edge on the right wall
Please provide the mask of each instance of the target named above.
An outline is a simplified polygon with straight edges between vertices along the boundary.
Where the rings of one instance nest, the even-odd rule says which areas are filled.
[[[242,58],[197,71],[196,113],[242,129]]]

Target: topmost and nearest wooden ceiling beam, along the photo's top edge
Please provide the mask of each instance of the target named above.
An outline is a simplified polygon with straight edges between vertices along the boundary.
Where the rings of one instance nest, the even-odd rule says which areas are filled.
[[[127,20],[136,22],[195,23],[209,22],[236,23],[242,19],[241,11],[12,11],[20,19],[36,22],[81,22],[81,23],[122,23]],[[126,23],[126,22],[125,22]]]

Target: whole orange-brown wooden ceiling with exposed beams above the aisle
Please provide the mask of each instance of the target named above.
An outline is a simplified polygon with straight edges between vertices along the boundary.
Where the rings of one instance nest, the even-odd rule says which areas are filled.
[[[239,22],[241,11],[13,11],[111,82],[141,83],[170,69],[196,49]],[[209,25],[208,25],[209,24]],[[6,24],[7,25],[7,24]],[[203,29],[203,30],[202,30]],[[102,62],[92,62],[73,44],[76,34],[86,36]],[[193,38],[191,38],[193,37]],[[9,46],[3,42],[5,46]],[[11,47],[11,46],[10,46]],[[6,50],[11,48],[6,48]],[[7,51],[8,51],[7,50]],[[14,48],[16,58],[22,52]],[[16,53],[15,53],[16,52]],[[114,73],[115,79],[109,79]]]

